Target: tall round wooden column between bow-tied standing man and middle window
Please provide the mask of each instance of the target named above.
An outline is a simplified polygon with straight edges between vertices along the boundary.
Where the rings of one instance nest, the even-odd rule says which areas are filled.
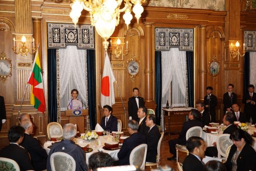
[[[145,75],[145,84],[144,84],[144,100],[153,101],[153,90],[152,90],[152,23],[145,22],[145,63],[144,63],[144,75]]]

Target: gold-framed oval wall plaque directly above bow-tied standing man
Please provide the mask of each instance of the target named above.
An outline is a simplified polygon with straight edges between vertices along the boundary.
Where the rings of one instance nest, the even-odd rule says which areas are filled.
[[[137,60],[134,55],[132,55],[131,58],[127,60],[126,69],[131,81],[133,82],[136,79],[136,75],[139,71],[139,60]]]

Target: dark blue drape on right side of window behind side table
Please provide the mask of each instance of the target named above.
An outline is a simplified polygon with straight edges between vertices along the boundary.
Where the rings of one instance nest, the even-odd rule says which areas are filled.
[[[186,51],[188,106],[194,107],[193,52]]]

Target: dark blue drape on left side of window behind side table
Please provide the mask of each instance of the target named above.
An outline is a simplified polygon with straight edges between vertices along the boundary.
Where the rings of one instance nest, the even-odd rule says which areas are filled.
[[[154,52],[154,101],[156,103],[155,116],[156,124],[160,125],[161,118],[161,100],[162,100],[162,63],[161,63],[161,51]]]

